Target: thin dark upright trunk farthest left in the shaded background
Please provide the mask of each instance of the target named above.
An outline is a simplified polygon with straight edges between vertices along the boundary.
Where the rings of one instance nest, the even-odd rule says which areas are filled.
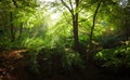
[[[14,35],[14,26],[13,26],[13,13],[11,12],[10,13],[10,27],[11,27],[11,42],[14,42],[15,41],[15,35]]]

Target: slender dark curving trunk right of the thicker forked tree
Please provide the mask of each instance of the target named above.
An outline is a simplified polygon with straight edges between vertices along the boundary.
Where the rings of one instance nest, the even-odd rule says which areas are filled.
[[[95,12],[94,12],[94,15],[93,15],[93,24],[92,24],[91,32],[90,32],[89,52],[88,52],[88,55],[87,55],[88,62],[93,61],[93,55],[94,55],[94,54],[92,53],[92,51],[93,51],[93,43],[92,43],[92,40],[93,40],[93,31],[94,31],[94,27],[95,27],[96,14],[98,14],[98,11],[99,11],[99,9],[100,9],[100,6],[101,6],[101,3],[102,3],[102,0],[99,1],[98,6],[96,6]]]

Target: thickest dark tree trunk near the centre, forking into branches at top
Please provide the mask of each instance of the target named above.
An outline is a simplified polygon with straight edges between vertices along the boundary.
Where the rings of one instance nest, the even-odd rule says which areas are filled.
[[[64,4],[64,6],[72,14],[73,34],[74,34],[74,50],[79,51],[79,38],[78,38],[79,0],[75,0],[75,5],[73,4],[73,0],[69,0],[69,4],[67,4],[64,0],[61,0],[61,1]]]

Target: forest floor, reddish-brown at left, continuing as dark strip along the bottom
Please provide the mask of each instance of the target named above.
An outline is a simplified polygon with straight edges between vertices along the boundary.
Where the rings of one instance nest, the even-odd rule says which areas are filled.
[[[68,75],[54,74],[42,78],[27,69],[29,55],[27,50],[0,51],[0,80],[130,80],[129,76],[107,75],[94,65],[83,70],[74,70]]]

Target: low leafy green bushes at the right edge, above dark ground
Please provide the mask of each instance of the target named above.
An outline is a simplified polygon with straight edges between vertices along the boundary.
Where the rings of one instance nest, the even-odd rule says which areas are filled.
[[[96,53],[95,61],[100,67],[130,68],[130,44],[102,50]]]

